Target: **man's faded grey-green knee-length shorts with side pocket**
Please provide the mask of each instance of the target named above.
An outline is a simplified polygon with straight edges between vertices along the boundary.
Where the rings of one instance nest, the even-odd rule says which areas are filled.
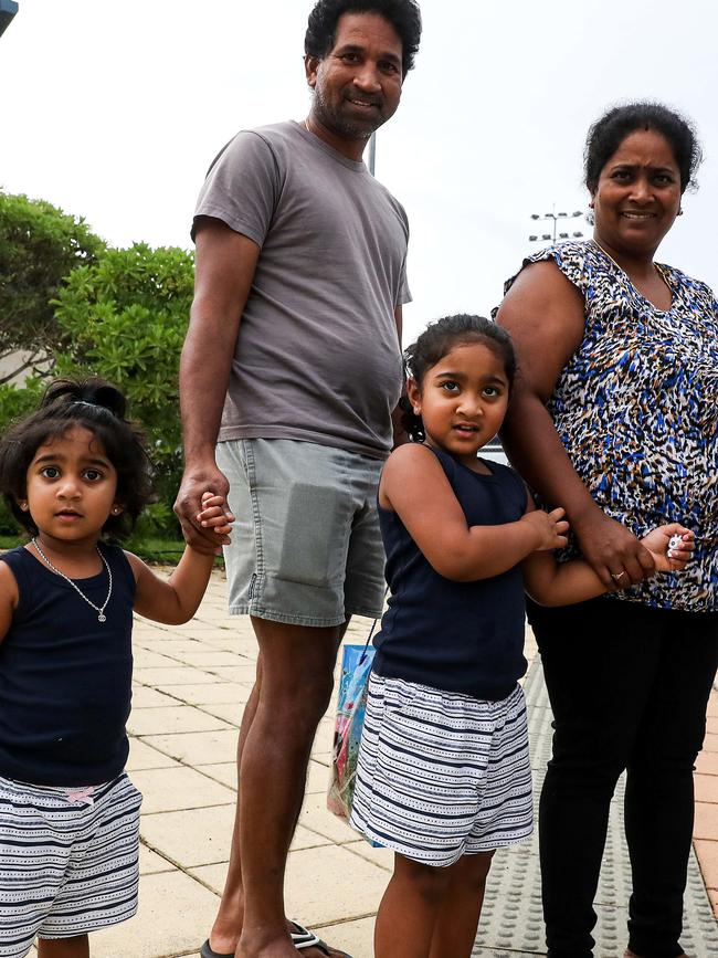
[[[232,614],[326,628],[381,615],[382,460],[285,439],[221,442],[236,517],[224,549]]]

